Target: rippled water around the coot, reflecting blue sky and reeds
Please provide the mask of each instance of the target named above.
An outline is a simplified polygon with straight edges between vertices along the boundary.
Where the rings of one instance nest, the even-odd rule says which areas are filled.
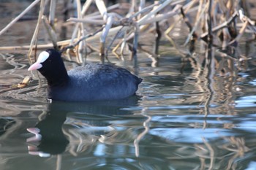
[[[143,53],[137,68],[116,62],[143,78],[138,96],[51,104],[45,80],[8,89],[31,73],[25,55],[2,54],[0,169],[255,169],[255,58],[206,74],[160,51],[155,66]]]

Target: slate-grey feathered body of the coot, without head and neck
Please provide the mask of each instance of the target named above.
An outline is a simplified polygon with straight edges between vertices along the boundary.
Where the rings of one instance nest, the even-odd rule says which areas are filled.
[[[101,101],[132,96],[142,81],[126,69],[87,64],[68,72],[67,85],[49,89],[49,97],[62,101]]]

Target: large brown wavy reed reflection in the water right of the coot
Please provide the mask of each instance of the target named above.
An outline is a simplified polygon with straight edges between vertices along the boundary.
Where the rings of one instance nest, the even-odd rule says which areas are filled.
[[[197,101],[205,107],[204,114],[236,115],[236,94],[241,90],[238,83],[243,82],[238,72],[248,69],[248,59],[238,49],[217,50],[216,47],[207,47],[200,42],[195,44],[200,45],[200,50],[182,50],[184,47],[180,47],[170,36],[167,37],[184,62],[189,62],[194,69],[191,75],[195,78],[197,93],[202,94],[197,96]],[[246,47],[248,51],[253,51],[249,46]],[[191,80],[187,80],[186,84],[191,83]]]

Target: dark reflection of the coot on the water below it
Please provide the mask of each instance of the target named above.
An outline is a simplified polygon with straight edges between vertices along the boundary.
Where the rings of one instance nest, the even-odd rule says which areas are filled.
[[[132,115],[132,111],[123,109],[136,107],[139,96],[132,96],[116,101],[97,102],[62,102],[53,101],[48,104],[48,110],[42,120],[28,131],[34,136],[27,139],[31,155],[50,156],[65,151],[69,140],[64,135],[62,125],[68,117],[81,119],[87,125],[108,126],[101,116]],[[99,133],[99,132],[98,132]],[[100,134],[94,134],[99,136]]]

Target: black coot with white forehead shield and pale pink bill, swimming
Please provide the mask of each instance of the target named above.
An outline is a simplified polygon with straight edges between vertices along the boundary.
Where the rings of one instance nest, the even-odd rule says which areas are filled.
[[[48,98],[58,101],[103,101],[135,94],[142,79],[127,69],[87,64],[67,72],[61,54],[48,49],[39,54],[29,71],[38,70],[48,81]]]

